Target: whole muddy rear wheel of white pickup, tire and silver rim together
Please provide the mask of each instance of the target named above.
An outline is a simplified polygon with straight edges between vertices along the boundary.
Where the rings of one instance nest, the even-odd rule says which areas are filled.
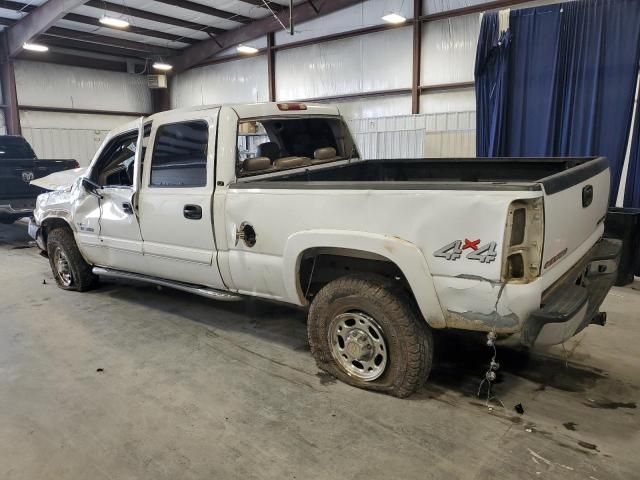
[[[350,385],[406,397],[431,371],[431,331],[384,277],[351,275],[325,285],[307,328],[318,366]]]

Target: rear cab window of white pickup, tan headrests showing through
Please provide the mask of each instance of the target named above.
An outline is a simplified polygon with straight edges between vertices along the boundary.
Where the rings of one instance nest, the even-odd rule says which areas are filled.
[[[238,176],[357,157],[349,130],[336,117],[274,117],[238,124]]]

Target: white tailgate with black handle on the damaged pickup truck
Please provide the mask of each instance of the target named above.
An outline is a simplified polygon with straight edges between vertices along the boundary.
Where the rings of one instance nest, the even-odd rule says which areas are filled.
[[[597,157],[541,180],[544,198],[544,273],[602,228],[609,204],[609,163]],[[590,245],[589,245],[590,246]]]

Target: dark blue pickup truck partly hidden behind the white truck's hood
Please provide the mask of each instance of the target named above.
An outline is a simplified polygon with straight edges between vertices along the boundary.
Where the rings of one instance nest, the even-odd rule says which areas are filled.
[[[0,135],[0,223],[31,216],[42,188],[31,180],[77,168],[75,160],[39,160],[23,137]]]

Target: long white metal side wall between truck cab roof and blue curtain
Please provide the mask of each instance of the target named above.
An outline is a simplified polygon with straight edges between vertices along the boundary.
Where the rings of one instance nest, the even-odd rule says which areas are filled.
[[[429,11],[461,5],[429,5]],[[466,3],[466,2],[465,2]],[[427,7],[425,7],[427,8]],[[391,11],[413,17],[413,2],[367,0],[296,26],[291,37],[275,35],[276,45],[383,24]],[[429,22],[423,26],[421,84],[473,81],[479,15]],[[266,37],[249,42],[266,47]],[[410,89],[412,27],[278,50],[275,55],[277,100],[316,100],[358,93]],[[217,57],[234,55],[234,49]],[[266,55],[246,57],[189,70],[171,79],[173,107],[268,100]],[[360,148],[369,157],[473,155],[473,89],[423,93],[421,116],[412,118],[411,95],[329,100],[351,122]],[[447,114],[460,112],[447,120]],[[444,118],[445,120],[442,120]],[[366,119],[366,121],[360,121]],[[427,128],[429,126],[429,128]],[[436,127],[437,126],[437,127]],[[444,127],[443,127],[444,126]],[[444,128],[444,130],[443,130]],[[449,130],[450,129],[450,130]],[[406,146],[402,146],[402,145]]]

